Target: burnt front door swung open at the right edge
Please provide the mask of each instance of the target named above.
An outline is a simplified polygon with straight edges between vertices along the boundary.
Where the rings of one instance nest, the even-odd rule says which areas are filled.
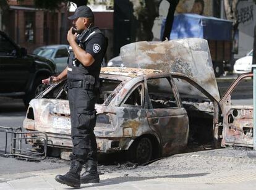
[[[221,146],[253,147],[253,105],[234,105],[231,102],[231,93],[239,82],[252,76],[252,73],[239,76],[220,101],[223,110]]]

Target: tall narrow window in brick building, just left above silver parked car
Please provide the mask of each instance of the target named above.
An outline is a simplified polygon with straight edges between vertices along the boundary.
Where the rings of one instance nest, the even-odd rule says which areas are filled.
[[[25,12],[25,41],[35,41],[35,12]]]

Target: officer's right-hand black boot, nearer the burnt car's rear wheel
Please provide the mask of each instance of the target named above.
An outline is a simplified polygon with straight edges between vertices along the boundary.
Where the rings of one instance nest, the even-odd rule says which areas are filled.
[[[99,183],[100,177],[97,171],[97,162],[88,160],[85,164],[85,172],[80,176],[80,183]]]

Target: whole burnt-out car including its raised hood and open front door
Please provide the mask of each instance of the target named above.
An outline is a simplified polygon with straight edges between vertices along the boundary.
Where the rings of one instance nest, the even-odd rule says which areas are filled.
[[[185,52],[190,51],[189,56],[196,53],[202,67],[195,65],[195,59],[191,60],[193,62],[191,64],[189,59],[184,62],[186,56],[176,54],[173,56],[177,56],[179,61],[174,59],[171,62],[168,58],[171,67],[163,69],[166,72],[128,67],[101,69],[103,88],[100,99],[95,105],[97,112],[95,136],[99,152],[127,151],[130,160],[145,163],[151,159],[182,152],[192,144],[220,147],[229,144],[246,146],[248,142],[250,143],[249,140],[244,143],[237,139],[232,141],[230,129],[233,126],[230,119],[226,118],[226,115],[231,117],[231,113],[234,119],[234,106],[232,107],[231,101],[228,100],[229,91],[223,99],[220,99],[212,64],[209,64],[210,53],[207,49],[207,53],[198,54],[200,52],[199,46],[196,46],[198,41],[193,40],[185,41],[190,43],[190,46],[177,45],[186,50]],[[203,51],[207,47],[204,43],[205,41],[199,41]],[[158,48],[158,44],[147,44],[147,48],[150,49],[151,45]],[[160,46],[163,47],[162,44]],[[135,49],[140,50],[140,48]],[[149,51],[145,52],[147,56],[150,55]],[[198,55],[199,58],[202,55],[201,59]],[[145,57],[139,58],[145,60]],[[153,55],[152,59],[157,57]],[[182,63],[187,67],[181,67]],[[201,69],[204,71],[203,78],[202,73],[198,74]],[[243,75],[239,80],[245,76],[252,74]],[[233,88],[235,86],[233,85]],[[229,108],[226,108],[227,104]],[[245,107],[240,108],[238,112],[244,113]],[[252,118],[249,122],[252,122]],[[252,127],[252,125],[247,126]],[[23,128],[27,131],[41,131],[47,134],[48,146],[61,150],[61,157],[64,158],[62,153],[72,148],[66,80],[52,84],[30,102]],[[252,139],[249,134],[250,132],[247,133],[247,137]],[[44,143],[38,139],[30,139],[28,142],[33,146],[44,146]]]

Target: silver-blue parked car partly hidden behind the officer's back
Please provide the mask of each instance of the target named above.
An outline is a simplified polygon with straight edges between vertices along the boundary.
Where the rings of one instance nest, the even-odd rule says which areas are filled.
[[[67,67],[69,46],[65,44],[41,46],[36,48],[33,54],[53,60],[56,64],[56,73],[59,74]]]

